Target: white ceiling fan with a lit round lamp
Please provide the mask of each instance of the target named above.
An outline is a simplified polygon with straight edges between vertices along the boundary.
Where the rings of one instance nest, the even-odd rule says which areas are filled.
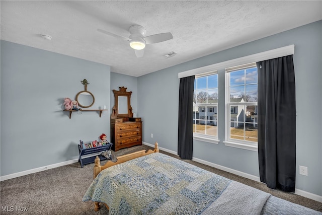
[[[134,49],[136,57],[143,56],[143,49],[144,49],[145,45],[152,44],[152,43],[158,43],[158,42],[164,42],[167,40],[171,40],[173,38],[173,36],[170,32],[145,36],[145,33],[146,33],[145,28],[140,25],[132,25],[129,28],[129,32],[130,32],[129,37],[117,35],[117,34],[102,30],[102,29],[97,29],[97,30],[101,33],[129,41],[131,48]]]

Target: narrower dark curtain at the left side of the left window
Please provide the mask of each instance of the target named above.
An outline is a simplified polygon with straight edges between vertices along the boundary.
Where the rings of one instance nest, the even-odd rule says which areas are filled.
[[[195,76],[180,79],[179,118],[178,118],[178,155],[192,160],[193,145],[193,90]]]

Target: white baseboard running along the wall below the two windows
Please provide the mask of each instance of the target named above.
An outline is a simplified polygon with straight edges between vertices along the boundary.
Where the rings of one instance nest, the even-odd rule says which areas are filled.
[[[142,144],[154,148],[154,144],[148,144],[147,142],[142,142]],[[172,151],[172,150],[168,150],[168,149],[164,149],[162,147],[159,147],[159,150],[162,150],[162,151],[174,154],[174,155],[178,155],[177,152]],[[248,174],[248,173],[244,173],[244,172],[240,172],[240,171],[237,171],[237,170],[234,170],[234,169],[230,169],[230,168],[218,165],[218,164],[214,164],[214,163],[211,163],[211,162],[208,162],[208,161],[204,161],[204,160],[199,159],[199,158],[192,158],[192,160],[196,161],[198,163],[201,163],[201,164],[208,165],[210,167],[214,167],[214,168],[217,168],[217,169],[220,169],[220,170],[223,170],[223,171],[226,171],[226,172],[229,172],[229,173],[244,177],[244,178],[248,178],[248,179],[251,179],[251,180],[254,180],[254,181],[258,181],[258,182],[261,181],[260,177],[255,176],[255,175],[251,175],[251,174]],[[303,196],[303,197],[306,197],[306,198],[313,199],[315,201],[322,202],[322,196],[316,195],[314,193],[309,193],[309,192],[306,192],[304,190],[295,189],[295,194]]]

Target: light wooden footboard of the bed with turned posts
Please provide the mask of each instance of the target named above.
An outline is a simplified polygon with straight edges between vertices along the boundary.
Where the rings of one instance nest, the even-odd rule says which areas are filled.
[[[139,157],[142,157],[145,155],[156,153],[156,152],[159,152],[157,142],[155,142],[155,144],[154,144],[154,150],[148,150],[148,151],[141,150],[141,151],[133,152],[130,154],[118,156],[118,157],[116,157],[116,162],[108,161],[108,162],[106,162],[106,164],[104,166],[101,166],[101,160],[100,160],[99,156],[96,156],[95,164],[94,164],[94,179],[102,170],[105,170],[106,168],[112,167],[117,164],[124,163],[126,161],[129,161],[129,160],[132,160],[135,158],[139,158]],[[98,211],[101,208],[100,202],[98,202],[98,201],[95,201],[94,205],[95,205],[95,207],[94,207],[95,211]],[[105,204],[105,206],[107,207],[107,209],[109,209],[107,204]]]

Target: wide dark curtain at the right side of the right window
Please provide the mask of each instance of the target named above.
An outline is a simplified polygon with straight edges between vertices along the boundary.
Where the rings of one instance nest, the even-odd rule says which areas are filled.
[[[293,56],[257,62],[260,179],[295,191],[295,76]]]

